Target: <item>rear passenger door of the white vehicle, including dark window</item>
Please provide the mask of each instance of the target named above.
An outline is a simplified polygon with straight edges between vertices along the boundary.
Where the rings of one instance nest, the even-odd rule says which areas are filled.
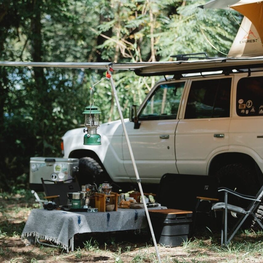
[[[175,133],[180,174],[207,175],[208,162],[228,150],[232,76],[195,78]]]

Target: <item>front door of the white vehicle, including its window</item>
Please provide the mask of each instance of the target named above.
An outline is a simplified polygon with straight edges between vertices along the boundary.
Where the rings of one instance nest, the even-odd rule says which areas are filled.
[[[175,129],[185,81],[158,84],[138,112],[139,129],[126,122],[135,162],[143,183],[159,183],[165,173],[177,173],[175,163]],[[127,142],[123,136],[125,170],[136,182]]]

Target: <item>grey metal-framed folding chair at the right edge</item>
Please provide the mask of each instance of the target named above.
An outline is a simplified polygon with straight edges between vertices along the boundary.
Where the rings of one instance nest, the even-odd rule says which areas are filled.
[[[245,220],[247,219],[247,217],[249,215],[253,216],[254,219],[257,221],[257,223],[263,229],[263,225],[261,224],[261,222],[258,220],[258,218],[256,217],[256,215],[254,213],[254,211],[257,209],[258,205],[261,203],[262,196],[263,196],[263,186],[260,188],[260,190],[258,191],[256,196],[243,195],[243,194],[237,193],[235,191],[232,191],[232,190],[230,190],[228,188],[224,188],[224,187],[220,187],[218,189],[219,189],[218,190],[219,192],[224,191],[224,202],[215,203],[212,206],[212,210],[214,210],[214,211],[217,211],[217,210],[222,211],[223,210],[224,211],[224,213],[223,213],[223,225],[222,225],[222,230],[221,230],[221,246],[223,244],[227,245],[232,240],[232,238],[234,237],[234,235],[236,234],[238,229],[245,222]],[[249,206],[246,209],[242,208],[242,207],[238,207],[236,205],[231,205],[228,203],[228,194],[236,195],[242,199],[251,200],[251,203],[249,204]],[[229,239],[227,239],[228,212],[231,212],[232,214],[234,214],[234,216],[236,216],[236,214],[242,215],[240,217],[239,221],[233,227],[233,229],[231,231],[232,235],[229,237]]]

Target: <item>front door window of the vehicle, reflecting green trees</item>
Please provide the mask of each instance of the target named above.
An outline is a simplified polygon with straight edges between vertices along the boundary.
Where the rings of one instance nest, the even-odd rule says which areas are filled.
[[[139,120],[176,119],[185,82],[161,84],[144,105]]]

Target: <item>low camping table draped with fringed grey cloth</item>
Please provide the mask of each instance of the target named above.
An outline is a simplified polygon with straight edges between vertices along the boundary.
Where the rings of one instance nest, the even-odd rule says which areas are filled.
[[[166,207],[148,210],[152,209]],[[141,229],[147,225],[144,209],[118,208],[113,212],[97,213],[32,209],[22,238],[26,237],[31,243],[40,243],[39,239],[49,240],[68,252],[69,248],[74,249],[75,234]]]

